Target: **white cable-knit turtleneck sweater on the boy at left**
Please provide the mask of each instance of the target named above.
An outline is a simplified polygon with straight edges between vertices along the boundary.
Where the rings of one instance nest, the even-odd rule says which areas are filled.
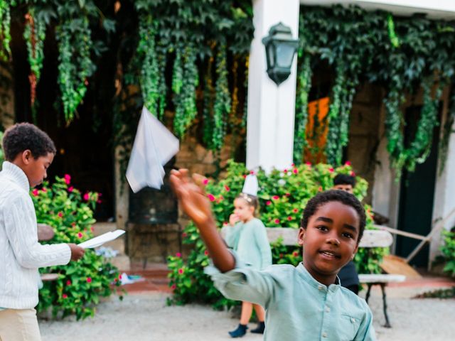
[[[0,307],[28,309],[38,304],[38,268],[68,264],[68,244],[38,243],[36,212],[28,179],[5,161],[0,172]]]

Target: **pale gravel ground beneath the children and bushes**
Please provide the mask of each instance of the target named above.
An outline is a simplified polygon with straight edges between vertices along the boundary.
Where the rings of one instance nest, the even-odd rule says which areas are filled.
[[[387,288],[392,328],[383,328],[380,291],[373,289],[370,307],[375,317],[378,340],[454,340],[455,300],[412,298],[417,293],[428,290]],[[214,311],[202,305],[168,307],[166,296],[154,292],[135,293],[125,296],[122,302],[112,297],[98,306],[95,318],[79,322],[73,318],[40,320],[43,341],[232,340],[228,330],[234,329],[238,322],[231,318],[230,313]],[[255,324],[250,324],[250,328],[254,326]],[[262,340],[262,337],[249,333],[242,340]]]

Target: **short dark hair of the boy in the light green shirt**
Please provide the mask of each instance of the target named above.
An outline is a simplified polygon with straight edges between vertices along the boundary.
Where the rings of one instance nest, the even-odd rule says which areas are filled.
[[[358,232],[357,243],[360,242],[363,236],[363,230],[365,229],[366,216],[365,209],[358,199],[353,195],[344,190],[326,190],[326,192],[321,192],[312,197],[309,202],[306,204],[304,215],[301,218],[301,227],[306,229],[308,221],[316,210],[319,209],[326,202],[338,201],[346,206],[353,207],[353,209],[358,213],[360,219],[360,227]]]

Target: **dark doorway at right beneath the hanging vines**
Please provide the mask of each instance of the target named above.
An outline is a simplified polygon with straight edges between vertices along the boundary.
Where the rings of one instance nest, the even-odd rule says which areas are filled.
[[[406,110],[405,145],[414,139],[422,107],[409,107]],[[438,117],[439,119],[439,117]],[[424,163],[417,164],[414,172],[403,171],[398,229],[406,232],[429,234],[432,229],[434,185],[437,178],[437,151],[439,127],[433,131],[432,150]],[[397,237],[396,254],[407,257],[419,244],[419,240]],[[425,267],[429,261],[429,247],[425,246],[411,261],[414,266]]]

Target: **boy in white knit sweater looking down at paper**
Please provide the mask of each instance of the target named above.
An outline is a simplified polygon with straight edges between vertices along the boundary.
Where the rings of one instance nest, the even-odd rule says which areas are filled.
[[[0,340],[41,340],[34,307],[38,268],[68,264],[84,249],[76,244],[38,243],[30,188],[43,182],[55,156],[53,141],[33,124],[5,131],[0,172]]]

